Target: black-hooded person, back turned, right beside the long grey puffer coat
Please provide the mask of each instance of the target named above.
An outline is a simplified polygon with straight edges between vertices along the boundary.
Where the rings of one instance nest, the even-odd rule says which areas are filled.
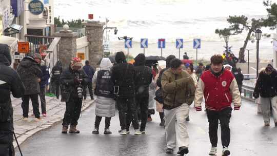
[[[122,51],[115,55],[116,65],[112,68],[113,81],[115,85],[116,104],[120,118],[121,135],[129,133],[127,129],[127,118],[132,119],[132,124],[135,129],[135,134],[140,135],[138,130],[137,112],[135,104],[135,69],[132,64],[128,64],[126,57]],[[116,89],[117,88],[117,89]]]

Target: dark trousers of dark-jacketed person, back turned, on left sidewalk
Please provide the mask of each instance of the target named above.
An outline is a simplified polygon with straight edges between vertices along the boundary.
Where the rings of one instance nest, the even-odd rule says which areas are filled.
[[[24,95],[22,97],[22,104],[21,107],[23,109],[23,117],[28,118],[29,113],[29,100],[31,99],[33,105],[33,113],[35,118],[39,118],[39,103],[38,103],[38,94],[31,94],[31,95]]]

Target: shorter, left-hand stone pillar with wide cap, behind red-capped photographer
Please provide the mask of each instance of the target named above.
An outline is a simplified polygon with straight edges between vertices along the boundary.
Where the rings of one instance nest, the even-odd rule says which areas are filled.
[[[58,60],[62,62],[63,69],[65,69],[69,66],[71,58],[76,57],[76,39],[78,33],[61,30],[60,32],[54,33],[54,36],[61,37]]]

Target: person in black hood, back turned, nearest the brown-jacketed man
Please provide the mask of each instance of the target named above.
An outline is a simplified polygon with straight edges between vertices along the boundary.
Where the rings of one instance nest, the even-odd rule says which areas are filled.
[[[148,103],[149,103],[149,85],[152,82],[152,70],[145,66],[145,55],[138,54],[135,57],[135,103],[141,114],[141,133],[145,133],[146,122],[148,118]],[[131,119],[127,119],[127,127],[130,126]]]

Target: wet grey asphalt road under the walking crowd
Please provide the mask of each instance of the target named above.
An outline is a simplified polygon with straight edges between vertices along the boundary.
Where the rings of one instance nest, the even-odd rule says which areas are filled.
[[[94,106],[82,113],[78,129],[80,134],[62,134],[61,124],[33,135],[21,145],[24,156],[40,155],[177,155],[165,153],[165,130],[159,126],[159,114],[152,115],[152,122],[147,124],[147,134],[121,136],[118,113],[111,120],[111,135],[105,135],[104,120],[100,126],[100,134],[91,134],[94,127]],[[196,112],[190,108],[190,122],[187,123],[190,137],[188,155],[208,155],[210,149],[208,122],[206,113]],[[272,121],[272,120],[271,120]],[[220,128],[220,127],[219,127]],[[264,127],[262,115],[256,114],[256,105],[243,101],[239,111],[232,112],[230,121],[231,155],[277,155],[277,127],[271,122]],[[217,151],[221,154],[221,140]],[[19,155],[16,149],[16,155]]]

